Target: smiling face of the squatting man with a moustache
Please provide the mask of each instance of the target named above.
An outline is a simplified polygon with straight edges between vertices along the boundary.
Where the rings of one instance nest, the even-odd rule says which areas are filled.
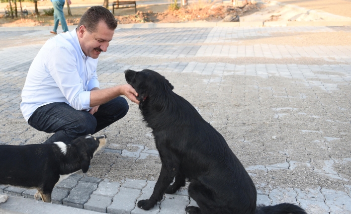
[[[78,29],[77,34],[83,53],[87,57],[97,59],[102,51],[107,51],[114,30],[110,30],[104,21],[100,21],[95,32],[89,33],[87,28],[82,25]]]

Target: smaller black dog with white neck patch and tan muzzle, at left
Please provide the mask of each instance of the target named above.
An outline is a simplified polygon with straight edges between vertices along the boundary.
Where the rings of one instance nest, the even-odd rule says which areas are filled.
[[[105,144],[105,135],[87,135],[67,144],[0,145],[0,184],[37,189],[35,199],[51,202],[54,186],[81,169],[86,173]]]

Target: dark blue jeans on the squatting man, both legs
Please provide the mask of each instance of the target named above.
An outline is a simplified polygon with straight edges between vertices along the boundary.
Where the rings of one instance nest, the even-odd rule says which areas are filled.
[[[87,111],[78,111],[67,103],[50,103],[37,108],[28,124],[36,130],[55,133],[44,143],[70,142],[104,129],[123,118],[128,109],[128,103],[123,97],[100,105],[93,115]]]

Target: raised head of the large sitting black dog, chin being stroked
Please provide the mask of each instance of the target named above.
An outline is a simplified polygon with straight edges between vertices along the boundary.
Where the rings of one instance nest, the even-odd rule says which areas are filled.
[[[139,94],[137,99],[142,103],[147,97],[152,97],[158,92],[173,90],[173,85],[160,73],[151,70],[124,71],[125,79]]]

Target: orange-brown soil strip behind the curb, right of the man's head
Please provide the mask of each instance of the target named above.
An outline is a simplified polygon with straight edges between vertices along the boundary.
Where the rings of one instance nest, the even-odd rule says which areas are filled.
[[[243,8],[234,7],[225,3],[193,3],[178,10],[167,9],[164,12],[147,12],[138,11],[136,14],[115,16],[120,24],[131,23],[178,23],[193,21],[211,21],[216,22],[222,20],[227,15],[245,16],[256,12],[260,9],[257,4],[247,4]]]

